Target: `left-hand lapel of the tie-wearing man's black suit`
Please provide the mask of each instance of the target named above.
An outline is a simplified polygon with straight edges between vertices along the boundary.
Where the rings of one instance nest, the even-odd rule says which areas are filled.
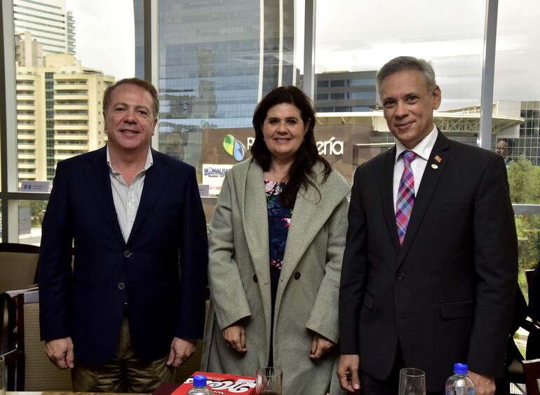
[[[393,207],[393,169],[396,165],[396,146],[386,152],[386,158],[382,164],[381,174],[381,203],[382,212],[386,221],[386,227],[390,238],[392,240],[392,246],[396,250],[396,254],[399,254],[400,245],[398,237],[398,228],[396,227],[396,212]]]

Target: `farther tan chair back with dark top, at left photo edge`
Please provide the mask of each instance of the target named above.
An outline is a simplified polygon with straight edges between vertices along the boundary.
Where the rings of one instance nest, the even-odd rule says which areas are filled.
[[[0,243],[0,293],[34,284],[39,247]]]

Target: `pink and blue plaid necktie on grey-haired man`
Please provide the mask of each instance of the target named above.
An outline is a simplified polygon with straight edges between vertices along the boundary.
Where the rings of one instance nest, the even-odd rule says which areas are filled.
[[[403,162],[405,168],[399,181],[398,199],[396,200],[396,225],[398,226],[399,244],[403,244],[405,232],[414,205],[414,176],[412,174],[411,162],[417,157],[412,151],[403,151]]]

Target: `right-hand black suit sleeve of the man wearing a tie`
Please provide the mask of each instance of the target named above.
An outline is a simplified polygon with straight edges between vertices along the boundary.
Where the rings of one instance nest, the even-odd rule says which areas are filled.
[[[476,307],[467,363],[471,370],[498,377],[510,330],[518,275],[518,239],[506,167],[494,155],[476,194]]]

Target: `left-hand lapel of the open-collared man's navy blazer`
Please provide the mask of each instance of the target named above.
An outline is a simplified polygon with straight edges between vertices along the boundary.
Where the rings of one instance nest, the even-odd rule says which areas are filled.
[[[116,210],[114,209],[114,200],[112,199],[111,179],[109,166],[107,165],[107,146],[88,155],[88,162],[84,167],[84,172],[88,177],[88,184],[92,186],[90,189],[95,204],[102,212],[105,222],[112,229],[116,239],[122,245],[125,245],[118,223],[118,216],[116,216]]]

